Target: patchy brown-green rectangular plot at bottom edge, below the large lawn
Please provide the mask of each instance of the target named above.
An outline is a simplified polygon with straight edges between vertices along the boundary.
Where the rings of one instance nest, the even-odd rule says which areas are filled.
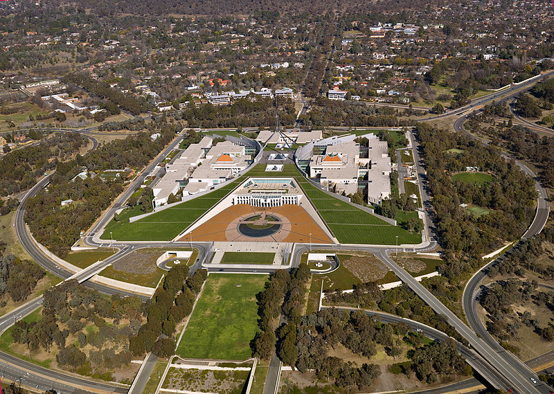
[[[198,370],[170,368],[163,388],[204,393],[240,394],[249,375],[247,370]]]

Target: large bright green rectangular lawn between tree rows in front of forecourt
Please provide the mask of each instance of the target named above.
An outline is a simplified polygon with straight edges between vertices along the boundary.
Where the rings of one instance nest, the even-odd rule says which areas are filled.
[[[266,280],[265,275],[210,275],[177,346],[177,355],[226,360],[251,357],[250,341],[258,330],[256,294]]]

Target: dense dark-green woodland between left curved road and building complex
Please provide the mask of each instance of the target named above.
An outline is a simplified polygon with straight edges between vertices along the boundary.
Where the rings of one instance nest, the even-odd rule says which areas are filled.
[[[102,181],[100,177],[86,179],[75,176],[82,170],[98,173],[102,170],[142,168],[165,147],[179,126],[157,124],[160,136],[152,141],[150,133],[142,132],[123,140],[114,140],[84,156],[58,162],[48,188],[41,190],[26,203],[25,220],[41,244],[57,256],[64,257],[100,213],[123,191],[120,177]],[[89,172],[89,175],[91,175]],[[71,181],[75,178],[74,181]],[[73,204],[61,206],[72,199]]]

